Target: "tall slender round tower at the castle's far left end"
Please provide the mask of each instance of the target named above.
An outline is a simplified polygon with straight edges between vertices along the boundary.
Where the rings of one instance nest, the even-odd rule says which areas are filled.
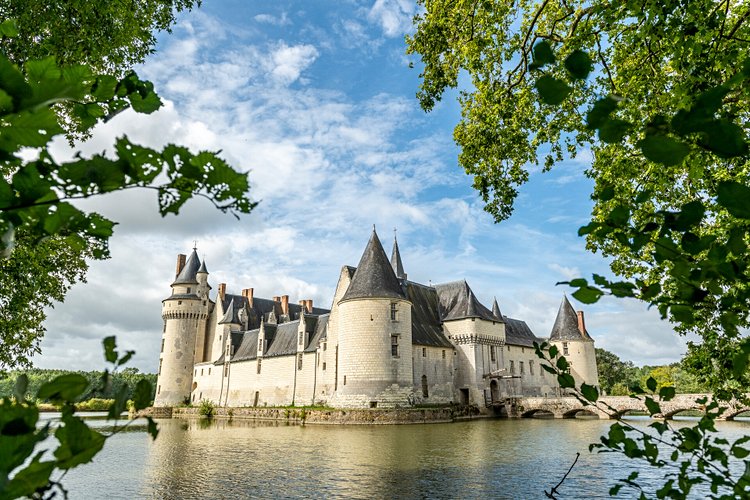
[[[197,352],[198,334],[205,329],[208,316],[207,298],[201,290],[201,286],[208,286],[208,272],[203,266],[201,283],[199,270],[201,262],[195,249],[187,260],[184,254],[177,256],[172,295],[162,301],[164,326],[154,406],[175,406],[190,397],[193,365],[202,356],[202,352]],[[200,344],[202,351],[202,341]]]

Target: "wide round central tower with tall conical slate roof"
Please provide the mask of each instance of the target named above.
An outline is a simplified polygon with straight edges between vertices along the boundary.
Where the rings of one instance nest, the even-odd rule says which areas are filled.
[[[374,228],[338,307],[336,404],[405,405],[413,390],[411,302]]]

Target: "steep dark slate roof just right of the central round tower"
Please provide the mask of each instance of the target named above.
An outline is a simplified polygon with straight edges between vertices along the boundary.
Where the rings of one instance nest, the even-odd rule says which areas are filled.
[[[440,324],[440,306],[434,288],[405,282],[406,298],[412,303],[411,342],[416,345],[453,347]]]

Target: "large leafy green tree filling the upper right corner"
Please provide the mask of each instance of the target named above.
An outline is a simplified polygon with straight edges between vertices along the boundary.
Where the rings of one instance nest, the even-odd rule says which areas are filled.
[[[528,167],[589,147],[588,246],[629,281],[574,280],[658,307],[690,345],[691,367],[722,394],[747,387],[750,346],[750,6],[729,0],[422,2],[408,51],[424,63],[430,110],[468,72],[454,138],[496,220]],[[745,362],[746,364],[746,362]],[[736,382],[736,383],[735,383]]]

